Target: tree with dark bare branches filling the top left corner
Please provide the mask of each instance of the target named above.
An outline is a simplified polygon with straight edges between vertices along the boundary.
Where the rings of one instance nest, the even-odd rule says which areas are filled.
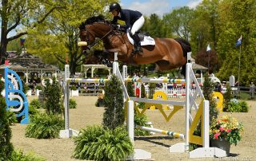
[[[30,0],[2,0],[1,14],[1,42],[0,61],[6,57],[8,42],[26,35],[29,29],[34,29],[44,22],[62,1],[30,1]],[[18,31],[14,36],[8,34]]]

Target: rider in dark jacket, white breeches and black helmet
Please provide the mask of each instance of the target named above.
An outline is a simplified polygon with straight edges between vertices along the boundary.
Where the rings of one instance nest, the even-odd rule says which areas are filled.
[[[126,26],[118,25],[118,28],[129,29],[130,35],[134,38],[134,53],[141,53],[142,46],[137,31],[145,22],[142,13],[137,10],[122,9],[117,2],[110,4],[110,12],[114,16],[111,23],[116,24],[118,20],[126,22]]]

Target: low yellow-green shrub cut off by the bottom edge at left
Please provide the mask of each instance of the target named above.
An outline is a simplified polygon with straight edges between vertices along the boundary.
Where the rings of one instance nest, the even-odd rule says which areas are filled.
[[[14,150],[11,154],[11,161],[44,161],[42,157],[34,155],[33,153],[23,154],[21,150]]]

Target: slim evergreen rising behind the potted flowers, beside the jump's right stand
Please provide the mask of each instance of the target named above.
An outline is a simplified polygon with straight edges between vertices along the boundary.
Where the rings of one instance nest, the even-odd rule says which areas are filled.
[[[214,100],[214,82],[210,80],[208,75],[205,75],[205,81],[202,86],[203,96],[206,100],[209,100],[210,110],[210,124],[214,118],[218,117],[218,108],[216,101]]]

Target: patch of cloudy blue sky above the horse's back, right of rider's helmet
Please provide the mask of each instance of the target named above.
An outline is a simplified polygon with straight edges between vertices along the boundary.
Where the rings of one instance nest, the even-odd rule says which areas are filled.
[[[181,6],[189,6],[194,8],[202,0],[121,0],[121,6],[125,9],[138,10],[149,16],[150,14],[170,13],[170,10]]]

